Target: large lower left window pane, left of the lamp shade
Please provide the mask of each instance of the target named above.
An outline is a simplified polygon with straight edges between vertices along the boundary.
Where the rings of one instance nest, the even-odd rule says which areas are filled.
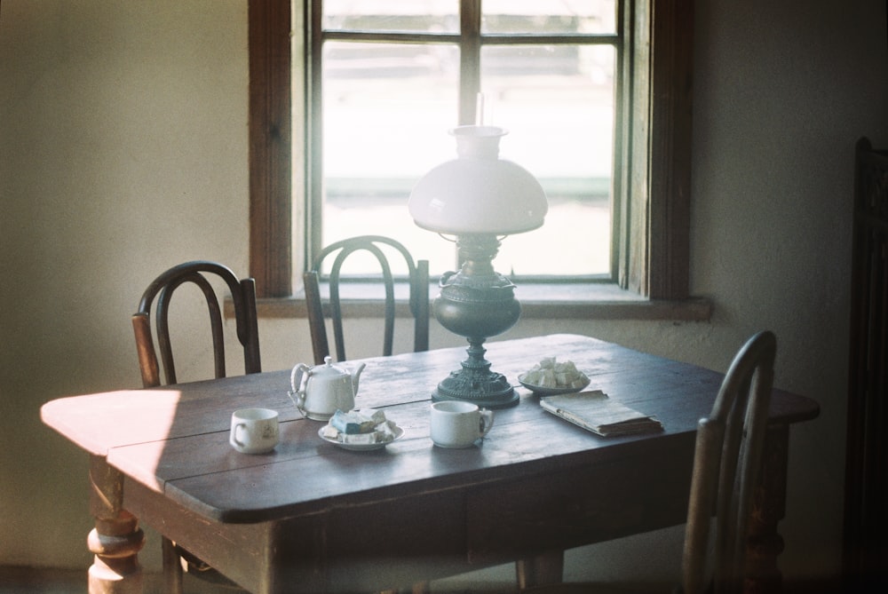
[[[452,246],[414,225],[407,202],[417,179],[456,156],[447,131],[456,125],[458,63],[453,45],[324,45],[324,245],[388,235],[431,270],[453,267]],[[350,258],[344,273],[366,272],[362,259]]]

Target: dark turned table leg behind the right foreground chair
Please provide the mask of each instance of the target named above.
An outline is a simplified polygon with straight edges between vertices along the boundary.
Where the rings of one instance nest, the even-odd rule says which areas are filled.
[[[752,502],[746,545],[747,594],[779,592],[782,575],[777,557],[783,538],[777,524],[786,515],[786,480],[789,457],[789,425],[771,425],[765,436],[765,460]]]

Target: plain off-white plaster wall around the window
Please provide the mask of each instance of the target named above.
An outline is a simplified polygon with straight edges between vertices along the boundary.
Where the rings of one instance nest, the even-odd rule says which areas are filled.
[[[781,567],[834,575],[852,156],[861,135],[888,147],[885,5],[696,4],[692,289],[712,321],[523,320],[505,337],[582,332],[724,370],[752,332],[776,331],[777,384],[822,408],[793,430]],[[244,0],[3,0],[0,565],[90,563],[85,455],[38,409],[139,385],[128,318],[156,273],[198,257],[247,273],[247,150]],[[309,360],[303,321],[260,332],[266,369]],[[433,346],[452,344],[435,329]],[[595,571],[616,572],[661,539],[670,571],[669,532],[569,568],[604,556]]]

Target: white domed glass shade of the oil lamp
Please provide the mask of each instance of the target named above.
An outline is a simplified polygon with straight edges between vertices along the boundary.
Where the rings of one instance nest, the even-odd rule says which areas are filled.
[[[494,126],[450,131],[459,158],[421,178],[408,209],[417,226],[441,234],[516,234],[543,225],[549,204],[543,186],[526,169],[498,158]]]

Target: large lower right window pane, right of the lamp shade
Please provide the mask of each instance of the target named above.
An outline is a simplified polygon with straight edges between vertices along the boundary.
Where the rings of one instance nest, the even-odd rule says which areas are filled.
[[[540,181],[549,213],[502,243],[497,270],[584,276],[610,270],[614,48],[491,46],[481,51],[485,122],[509,131],[500,156]]]

